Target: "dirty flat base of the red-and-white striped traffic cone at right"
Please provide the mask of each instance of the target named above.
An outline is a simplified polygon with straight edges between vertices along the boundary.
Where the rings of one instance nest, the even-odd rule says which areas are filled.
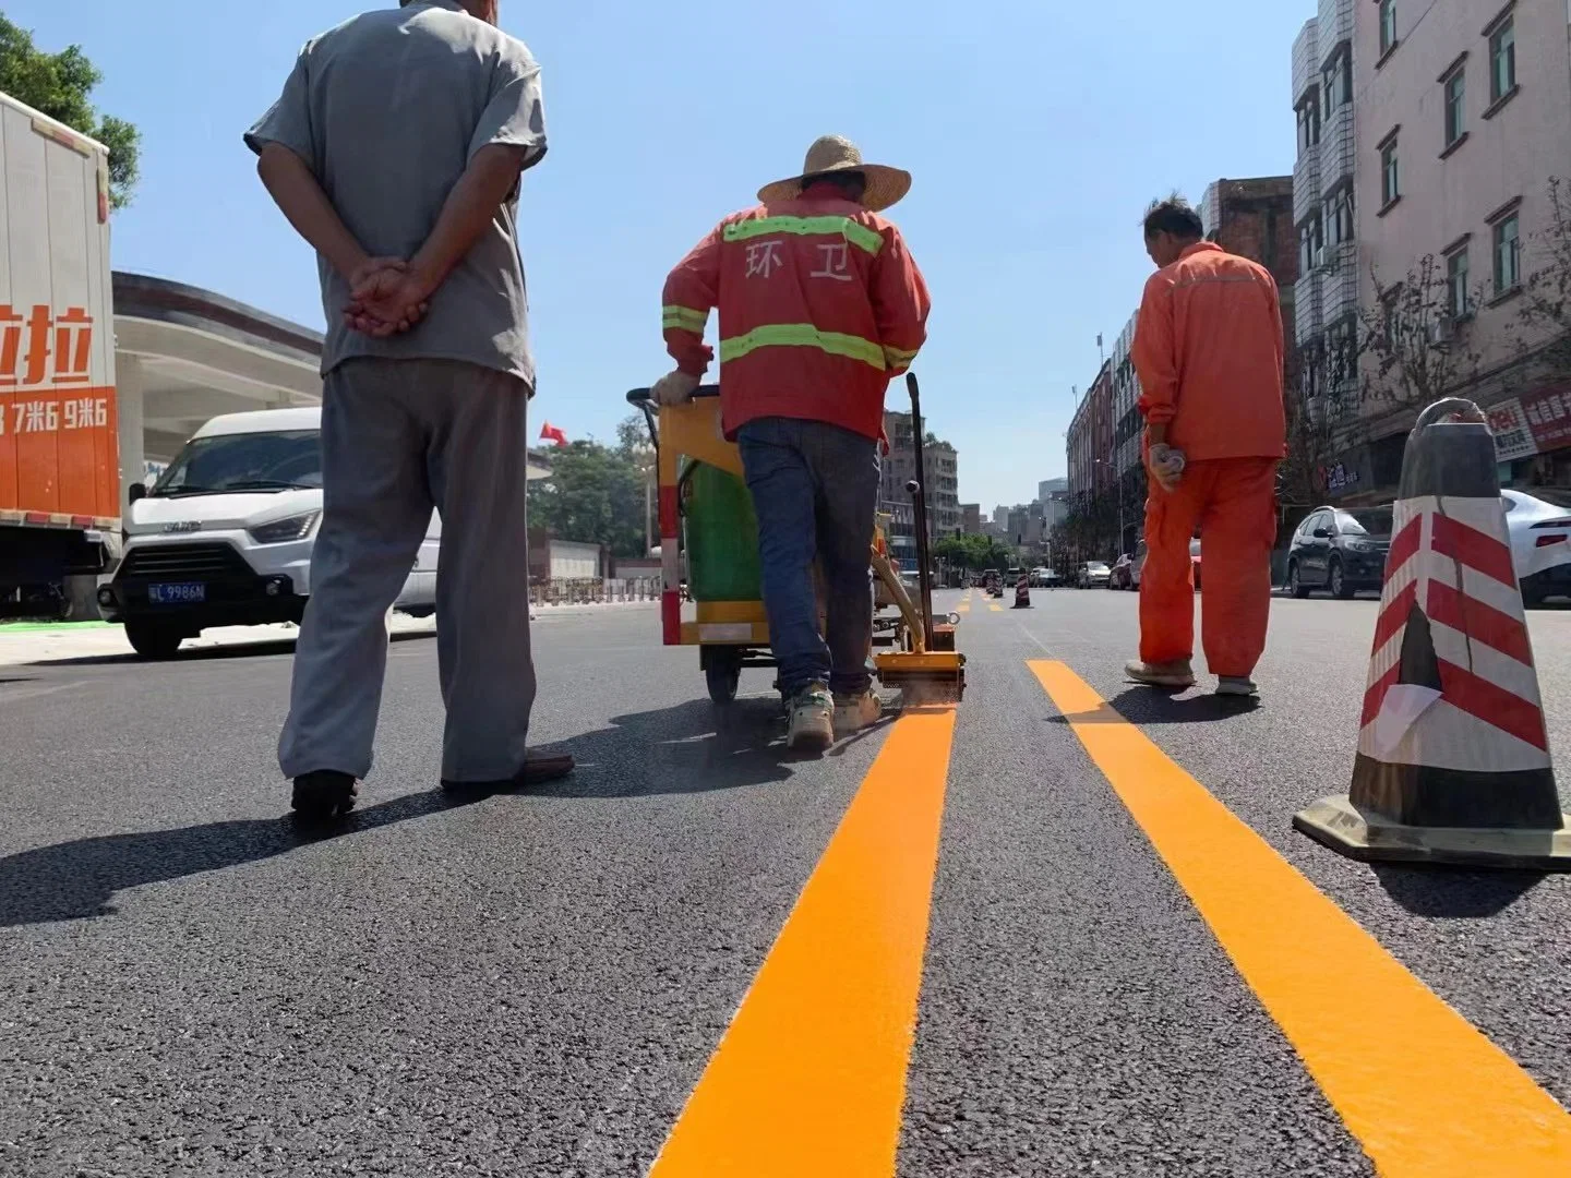
[[[1360,812],[1342,795],[1299,810],[1293,829],[1359,862],[1571,872],[1571,815],[1562,815],[1562,829],[1403,826]]]

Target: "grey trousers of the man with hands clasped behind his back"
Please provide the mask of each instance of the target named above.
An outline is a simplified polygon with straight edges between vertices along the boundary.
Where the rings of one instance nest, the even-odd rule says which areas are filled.
[[[388,609],[441,512],[437,666],[441,776],[523,768],[534,663],[525,523],[528,386],[448,360],[349,360],[322,394],[324,512],[295,647],[286,777],[364,777],[382,707]]]

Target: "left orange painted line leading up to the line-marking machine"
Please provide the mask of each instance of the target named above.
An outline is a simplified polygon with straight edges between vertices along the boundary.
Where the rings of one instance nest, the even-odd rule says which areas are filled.
[[[902,716],[649,1178],[891,1178],[954,708]]]

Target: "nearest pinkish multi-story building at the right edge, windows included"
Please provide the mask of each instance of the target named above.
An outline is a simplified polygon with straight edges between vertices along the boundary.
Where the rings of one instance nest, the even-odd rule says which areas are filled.
[[[1398,358],[1365,349],[1364,383],[1384,396],[1360,404],[1362,495],[1390,493],[1415,399],[1441,393],[1491,412],[1502,477],[1571,477],[1565,322],[1530,314],[1544,278],[1571,276],[1568,24],[1565,0],[1359,0],[1338,25],[1359,101],[1359,265],[1348,281],[1390,320],[1378,327]],[[1442,357],[1430,374],[1444,388],[1403,377],[1414,344]]]

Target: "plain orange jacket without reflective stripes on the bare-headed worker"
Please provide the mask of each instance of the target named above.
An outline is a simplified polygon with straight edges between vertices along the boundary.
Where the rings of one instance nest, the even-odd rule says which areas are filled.
[[[1191,245],[1145,283],[1131,360],[1147,424],[1191,462],[1285,454],[1282,306],[1263,265]]]

